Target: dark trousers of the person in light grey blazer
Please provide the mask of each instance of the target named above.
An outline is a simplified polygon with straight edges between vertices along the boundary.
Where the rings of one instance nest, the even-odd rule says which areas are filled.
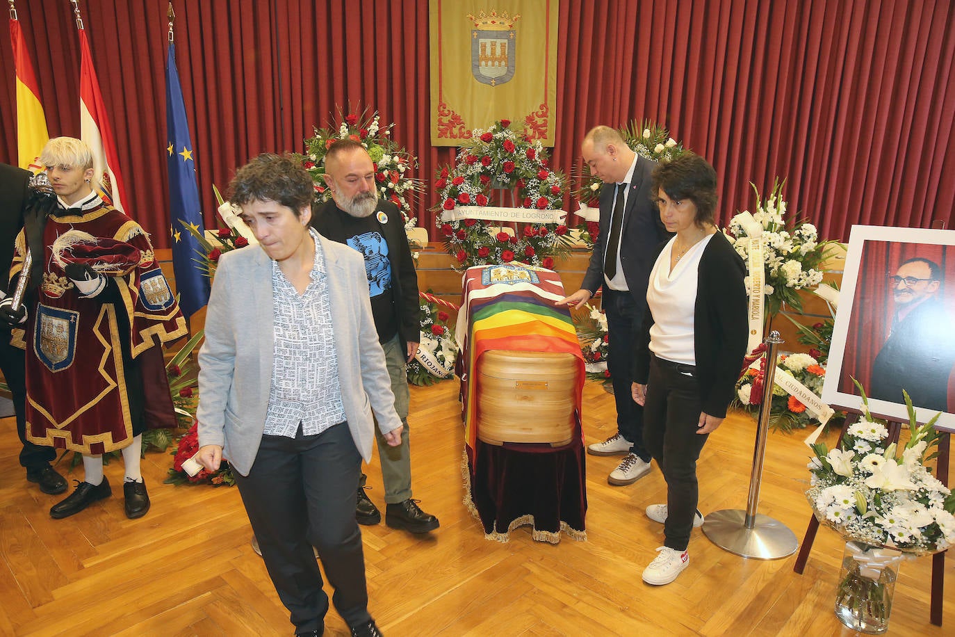
[[[325,627],[329,596],[312,546],[349,626],[368,622],[368,588],[355,499],[361,456],[347,423],[319,435],[264,435],[248,476],[236,475],[265,568],[296,632]]]

